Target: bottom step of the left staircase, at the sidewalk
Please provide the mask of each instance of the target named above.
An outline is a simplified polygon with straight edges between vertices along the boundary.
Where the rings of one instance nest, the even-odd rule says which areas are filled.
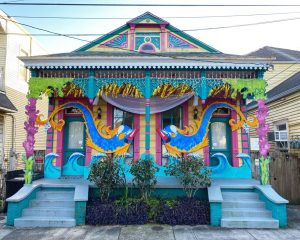
[[[16,218],[14,222],[17,228],[26,227],[74,227],[76,225],[75,218],[59,218],[59,217],[37,217],[37,216],[24,216]]]

